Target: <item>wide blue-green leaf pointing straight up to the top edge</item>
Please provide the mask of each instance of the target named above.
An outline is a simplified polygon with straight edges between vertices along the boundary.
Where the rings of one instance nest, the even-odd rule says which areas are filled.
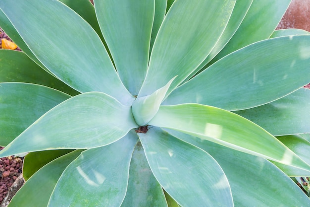
[[[154,0],[95,0],[98,21],[117,72],[133,94],[143,83],[149,62]]]

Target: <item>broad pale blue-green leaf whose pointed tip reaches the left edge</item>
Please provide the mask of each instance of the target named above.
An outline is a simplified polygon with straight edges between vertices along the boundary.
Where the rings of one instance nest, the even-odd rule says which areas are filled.
[[[0,156],[99,147],[137,127],[129,106],[101,92],[83,93],[52,108],[2,149]]]

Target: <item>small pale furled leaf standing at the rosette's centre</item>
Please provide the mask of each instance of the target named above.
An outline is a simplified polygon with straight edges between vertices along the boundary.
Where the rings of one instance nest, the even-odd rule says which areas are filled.
[[[174,79],[175,77],[172,78],[165,86],[159,88],[151,95],[138,97],[134,101],[132,105],[132,114],[138,125],[144,126],[148,124],[149,121],[155,116]]]

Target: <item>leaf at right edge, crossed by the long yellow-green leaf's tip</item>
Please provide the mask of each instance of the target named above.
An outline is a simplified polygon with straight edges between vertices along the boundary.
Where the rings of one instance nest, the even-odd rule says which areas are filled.
[[[309,151],[310,142],[298,135],[281,136],[277,137],[288,148],[295,152],[305,162],[310,163]],[[285,174],[290,177],[294,176],[310,176],[309,170],[302,170],[292,166],[283,165],[277,162],[273,162],[278,168],[280,168]]]

